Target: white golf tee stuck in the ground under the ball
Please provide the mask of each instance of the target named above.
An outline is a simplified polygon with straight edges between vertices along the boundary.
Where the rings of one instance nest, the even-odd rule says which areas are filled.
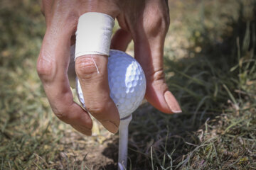
[[[128,152],[128,127],[132,120],[132,114],[120,120],[119,125],[119,149],[118,149],[118,169],[127,169]]]

